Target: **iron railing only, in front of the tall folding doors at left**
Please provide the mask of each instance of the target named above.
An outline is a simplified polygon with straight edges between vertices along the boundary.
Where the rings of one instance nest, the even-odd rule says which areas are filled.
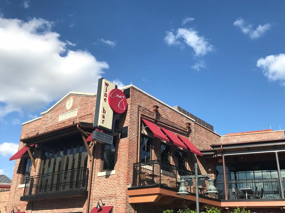
[[[23,196],[78,189],[87,190],[88,172],[88,168],[80,168],[27,177]]]

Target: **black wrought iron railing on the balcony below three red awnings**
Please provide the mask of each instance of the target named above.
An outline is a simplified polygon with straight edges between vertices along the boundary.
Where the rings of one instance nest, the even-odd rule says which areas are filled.
[[[181,176],[194,175],[194,172],[159,160],[134,163],[133,169],[132,186],[159,185],[162,188],[178,190]],[[192,186],[186,183],[186,188],[189,192],[195,193],[194,178],[192,178],[192,182]],[[208,181],[206,181],[206,185],[201,185],[199,180],[198,188],[199,193],[204,194],[208,188]]]

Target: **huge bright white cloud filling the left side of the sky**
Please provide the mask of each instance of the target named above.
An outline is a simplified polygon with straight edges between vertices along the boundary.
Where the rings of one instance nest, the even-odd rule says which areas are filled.
[[[40,18],[0,17],[1,116],[42,108],[72,90],[96,92],[96,79],[108,64],[87,51],[67,49],[52,26]]]

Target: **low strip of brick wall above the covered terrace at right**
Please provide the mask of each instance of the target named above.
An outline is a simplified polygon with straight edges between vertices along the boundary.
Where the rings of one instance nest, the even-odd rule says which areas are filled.
[[[272,132],[243,133],[239,135],[222,135],[221,143],[238,143],[284,138],[284,130]]]

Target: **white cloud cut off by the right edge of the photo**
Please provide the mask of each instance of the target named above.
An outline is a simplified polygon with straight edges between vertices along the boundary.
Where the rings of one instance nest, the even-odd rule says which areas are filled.
[[[270,55],[257,60],[263,74],[272,81],[280,80],[285,85],[285,54]]]

